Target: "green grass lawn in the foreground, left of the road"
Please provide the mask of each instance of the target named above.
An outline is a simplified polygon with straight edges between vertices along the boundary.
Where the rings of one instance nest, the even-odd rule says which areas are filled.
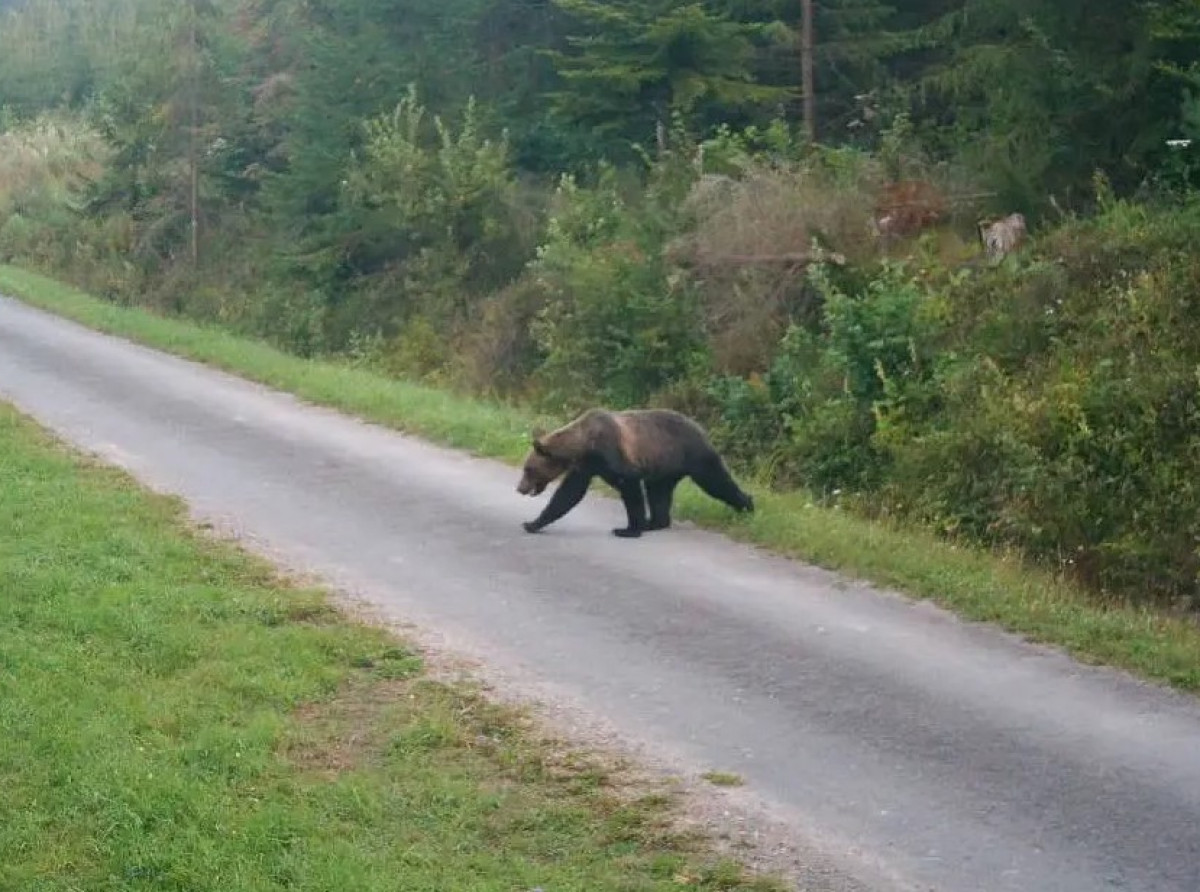
[[[778,888],[4,405],[0,728],[4,890]]]

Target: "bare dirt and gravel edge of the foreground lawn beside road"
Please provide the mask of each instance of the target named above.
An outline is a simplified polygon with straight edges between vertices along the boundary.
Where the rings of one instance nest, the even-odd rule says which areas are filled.
[[[422,677],[398,683],[358,678],[328,704],[298,712],[301,724],[325,729],[318,750],[302,762],[336,772],[378,759],[389,735],[403,736],[415,716],[450,710],[457,735],[443,744],[472,750],[498,768],[505,785],[558,788],[605,815],[613,833],[688,852],[736,862],[758,878],[756,888],[865,892],[840,868],[810,849],[792,816],[773,812],[754,792],[714,785],[700,770],[630,741],[587,713],[524,680],[498,674],[440,636],[389,622],[373,606],[342,593],[348,616],[402,634],[415,646]],[[310,737],[310,741],[314,738]],[[808,837],[810,838],[810,837]],[[710,878],[709,878],[710,879]],[[690,885],[692,876],[679,876]]]

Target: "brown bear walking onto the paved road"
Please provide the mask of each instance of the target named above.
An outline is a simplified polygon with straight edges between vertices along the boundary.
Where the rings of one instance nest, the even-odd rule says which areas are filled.
[[[536,533],[575,508],[595,477],[625,503],[628,523],[612,531],[623,538],[671,526],[671,498],[685,477],[738,511],[754,510],[754,499],[734,483],[704,429],[671,409],[594,408],[557,431],[535,431],[517,492],[539,496],[563,474],[550,504],[523,525],[527,532]]]

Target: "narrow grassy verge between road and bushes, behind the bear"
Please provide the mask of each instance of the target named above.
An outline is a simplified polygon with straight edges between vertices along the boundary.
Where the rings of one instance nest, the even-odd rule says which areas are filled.
[[[289,357],[234,335],[116,307],[68,286],[0,267],[0,292],[162,349],[236,372],[317,403],[478,455],[517,462],[539,419],[521,409],[455,396],[332,363]],[[754,487],[751,487],[754,489]],[[970,619],[995,622],[1075,657],[1200,690],[1200,625],[1187,618],[1098,604],[1061,579],[919,529],[814,507],[806,493],[755,492],[758,510],[731,519],[698,491],[680,489],[678,515],[733,538],[930,598]]]

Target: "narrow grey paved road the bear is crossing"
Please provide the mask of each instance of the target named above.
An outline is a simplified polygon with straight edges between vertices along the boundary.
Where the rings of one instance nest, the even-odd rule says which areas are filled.
[[[1200,708],[0,299],[0,396],[386,615],[782,809],[811,888],[1200,890]],[[2,507],[0,507],[2,510]],[[860,885],[859,885],[860,884]]]

